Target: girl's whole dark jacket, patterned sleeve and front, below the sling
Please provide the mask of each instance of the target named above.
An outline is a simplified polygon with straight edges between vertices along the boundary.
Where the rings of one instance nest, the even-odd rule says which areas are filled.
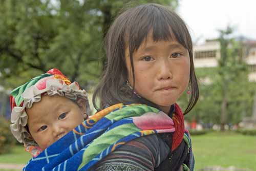
[[[172,117],[175,105],[168,113]],[[176,106],[177,108],[178,106]],[[185,131],[183,142],[171,152],[173,133],[153,134],[130,141],[99,161],[93,171],[169,171],[193,170],[194,158],[189,134]],[[167,155],[167,157],[166,157]]]

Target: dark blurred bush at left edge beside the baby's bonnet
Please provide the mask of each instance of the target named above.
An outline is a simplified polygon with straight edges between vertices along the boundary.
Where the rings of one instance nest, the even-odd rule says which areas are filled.
[[[0,117],[0,155],[10,152],[15,142],[9,122]]]

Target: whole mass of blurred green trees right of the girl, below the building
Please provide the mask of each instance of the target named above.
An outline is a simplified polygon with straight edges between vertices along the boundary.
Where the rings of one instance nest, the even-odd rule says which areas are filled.
[[[255,83],[248,80],[248,69],[242,60],[241,42],[233,36],[233,29],[220,30],[221,58],[218,67],[197,68],[200,97],[198,104],[186,116],[204,123],[237,124],[244,116],[251,115]],[[180,100],[187,105],[187,95]]]

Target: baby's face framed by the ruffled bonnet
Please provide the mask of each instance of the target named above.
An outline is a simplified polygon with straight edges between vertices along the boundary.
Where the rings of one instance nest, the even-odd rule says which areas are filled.
[[[78,105],[66,97],[45,95],[26,110],[30,134],[42,150],[83,122],[85,107]]]

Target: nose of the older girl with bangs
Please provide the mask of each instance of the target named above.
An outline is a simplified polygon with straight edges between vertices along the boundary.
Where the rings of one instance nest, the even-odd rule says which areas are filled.
[[[158,75],[157,78],[159,80],[171,79],[173,77],[172,71],[170,69],[170,61],[161,60],[158,66]]]

